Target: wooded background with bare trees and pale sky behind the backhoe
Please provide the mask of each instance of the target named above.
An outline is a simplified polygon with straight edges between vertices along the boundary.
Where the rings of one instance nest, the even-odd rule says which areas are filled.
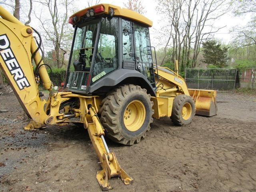
[[[0,5],[24,24],[36,23],[32,27],[42,36],[44,62],[53,68],[66,70],[73,38],[73,28],[68,24],[68,18],[82,9],[74,2],[76,0],[0,0]],[[164,20],[159,30],[154,31],[159,35],[152,44],[156,47],[158,65],[173,69],[174,61],[178,60],[182,76],[188,67],[256,68],[256,0],[156,2],[156,10],[159,10],[161,20]],[[87,0],[88,6],[98,3],[101,0]],[[147,11],[142,0],[126,0],[123,6],[140,14]],[[232,36],[228,44],[214,38],[214,34],[226,27],[216,25],[216,21],[226,14],[234,17],[250,16],[250,20],[244,21],[246,26],[227,29]]]

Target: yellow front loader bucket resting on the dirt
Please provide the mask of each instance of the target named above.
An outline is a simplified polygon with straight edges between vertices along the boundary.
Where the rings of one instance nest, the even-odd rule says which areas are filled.
[[[216,90],[188,89],[196,104],[196,115],[217,115]]]

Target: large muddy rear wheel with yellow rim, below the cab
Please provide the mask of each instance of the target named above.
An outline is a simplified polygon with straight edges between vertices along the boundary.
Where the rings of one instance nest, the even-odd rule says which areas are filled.
[[[124,145],[140,142],[153,122],[153,102],[146,89],[133,84],[122,85],[102,100],[100,121],[106,136]]]

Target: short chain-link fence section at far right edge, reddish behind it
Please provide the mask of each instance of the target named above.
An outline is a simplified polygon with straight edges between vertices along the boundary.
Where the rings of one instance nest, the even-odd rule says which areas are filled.
[[[256,68],[241,70],[239,78],[241,88],[256,89]]]

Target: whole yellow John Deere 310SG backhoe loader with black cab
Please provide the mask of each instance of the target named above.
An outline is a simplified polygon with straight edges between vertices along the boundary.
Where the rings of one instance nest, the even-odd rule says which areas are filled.
[[[102,190],[111,189],[112,177],[124,184],[133,181],[108,149],[105,136],[132,145],[146,136],[153,118],[170,117],[182,126],[195,113],[217,113],[216,91],[188,90],[177,63],[175,71],[153,64],[152,21],[136,12],[98,4],[70,16],[74,38],[62,92],[52,90],[40,34],[1,6],[0,16],[0,66],[32,119],[25,129],[82,124],[100,160],[96,179]],[[49,91],[48,100],[38,90],[40,82]]]

